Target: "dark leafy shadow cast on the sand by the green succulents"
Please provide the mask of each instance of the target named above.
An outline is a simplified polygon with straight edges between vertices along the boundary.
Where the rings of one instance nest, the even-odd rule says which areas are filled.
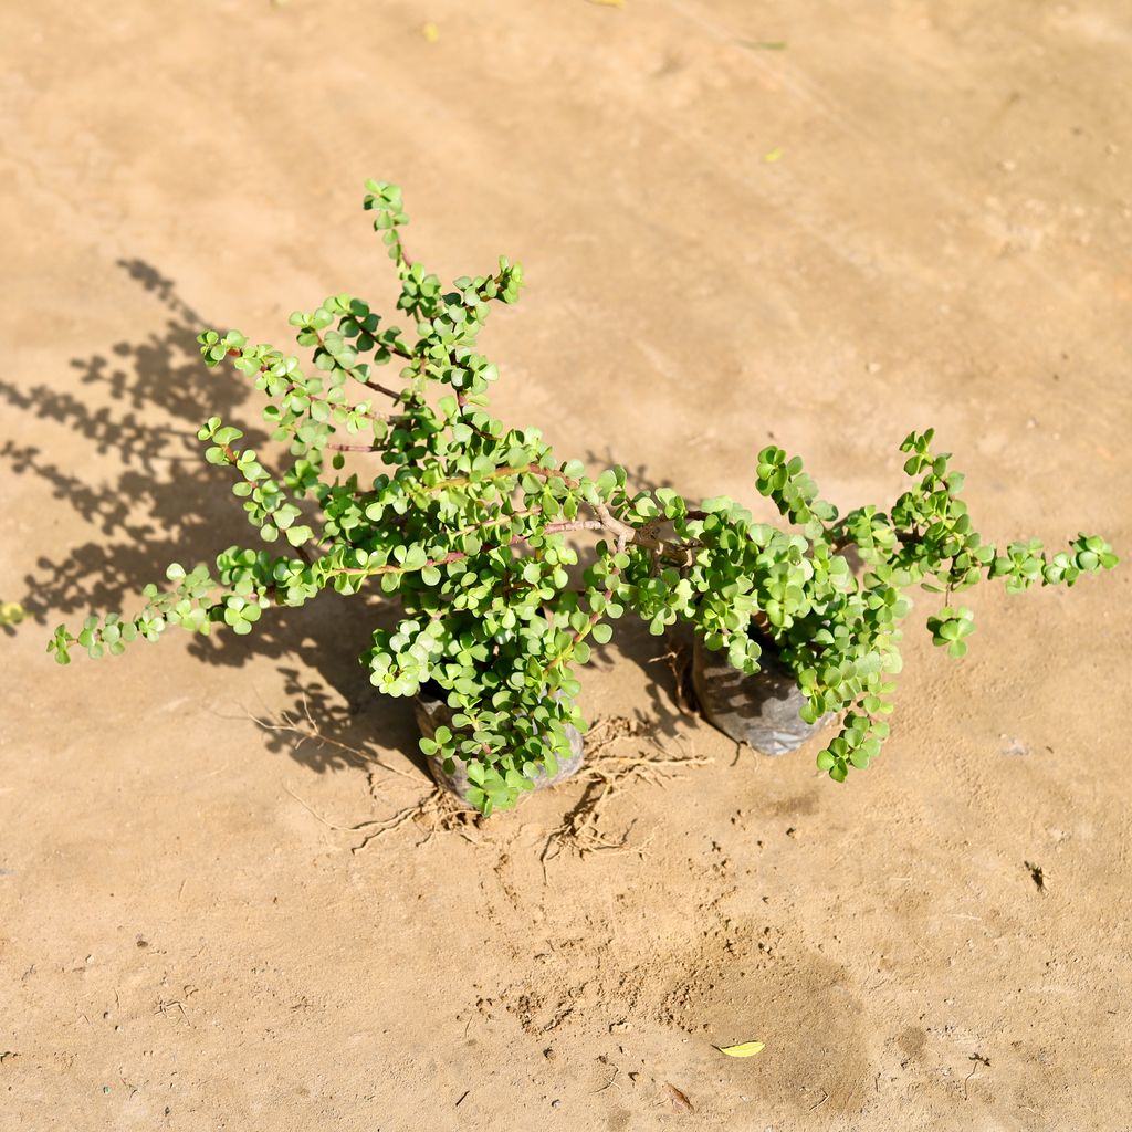
[[[215,414],[245,429],[249,446],[264,451],[271,441],[255,423],[257,392],[239,375],[204,365],[196,335],[206,324],[171,280],[138,259],[119,260],[118,266],[165,308],[162,331],[115,343],[104,354],[72,359],[89,397],[46,384],[20,387],[0,380],[0,401],[26,417],[65,426],[97,455],[110,454],[118,463],[100,482],[87,482],[34,443],[11,436],[0,441],[0,458],[15,474],[46,481],[55,499],[98,531],[60,557],[41,557],[24,578],[24,633],[92,612],[129,612],[140,606],[142,588],[160,584],[171,561],[211,563],[228,546],[258,544],[226,470],[205,463],[196,436]],[[9,420],[18,422],[15,414]],[[17,436],[27,431],[12,429]],[[589,457],[593,461],[594,454]],[[659,486],[649,484],[643,469],[633,475],[642,488]],[[366,614],[359,616],[363,602]],[[245,705],[252,715],[267,717],[261,728],[269,749],[318,772],[358,769],[371,764],[366,751],[379,735],[423,772],[411,702],[378,695],[358,661],[374,629],[391,626],[396,617],[395,607],[379,598],[334,600],[327,594],[299,609],[269,610],[248,637],[223,631],[194,636],[190,652],[205,663],[230,668],[252,655],[276,662],[285,702]],[[681,717],[663,638],[650,637],[643,625],[626,618],[614,641],[595,650],[593,675],[610,668],[611,651],[648,676],[651,702],[635,713],[637,721],[657,736],[674,735]],[[302,741],[269,726],[272,719],[303,720],[326,741]]]

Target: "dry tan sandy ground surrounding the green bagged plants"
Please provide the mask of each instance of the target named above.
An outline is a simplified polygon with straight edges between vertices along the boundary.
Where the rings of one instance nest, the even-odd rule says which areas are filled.
[[[844,506],[934,423],[989,537],[1127,555],[1126,3],[3,8],[5,1132],[1132,1126],[1132,564],[977,594],[963,663],[925,602],[844,787],[684,718],[624,633],[601,757],[711,762],[584,857],[544,854],[577,783],[353,851],[428,794],[360,601],[44,653],[247,538],[194,431],[258,406],[192,335],[387,300],[366,177],[443,274],[522,259],[497,405],[564,458],[758,506],[773,438]],[[303,701],[341,746],[250,718]]]

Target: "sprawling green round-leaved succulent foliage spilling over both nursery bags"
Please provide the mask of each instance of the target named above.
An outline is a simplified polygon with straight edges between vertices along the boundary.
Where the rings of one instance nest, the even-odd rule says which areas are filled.
[[[446,286],[405,250],[401,190],[367,189],[406,327],[362,299],[332,295],[291,316],[312,366],[238,331],[200,334],[208,366],[231,363],[263,392],[264,419],[289,453],[275,472],[228,421],[212,417],[199,431],[204,458],[232,474],[258,542],[230,547],[214,567],[172,564],[170,584],[146,586],[132,617],[91,617],[77,633],[60,626],[49,645],[60,663],[75,646],[120,653],[171,625],[251,633],[272,607],[326,590],[380,592],[402,618],[374,632],[361,658],[370,680],[393,696],[426,681],[443,689],[452,726],[421,747],[449,772],[466,763],[470,800],[490,813],[532,789],[540,767],[556,772],[566,728],[585,728],[578,670],[632,611],[657,635],[691,623],[746,674],[773,650],[805,697],[803,719],[839,717],[817,764],[842,781],[889,734],[912,588],[945,595],[927,627],[962,657],[974,625],[953,594],[987,578],[1012,593],[1070,586],[1115,565],[1097,535],[1048,556],[1037,541],[985,542],[932,429],[901,445],[911,482],[887,511],[839,515],[797,456],[764,448],[754,484],[781,528],[726,496],[634,490],[623,468],[592,475],[559,461],[538,429],[488,411],[498,371],[478,340],[491,306],[518,298],[520,265],[501,258],[490,274]],[[568,539],[583,534],[595,544],[578,571]]]

